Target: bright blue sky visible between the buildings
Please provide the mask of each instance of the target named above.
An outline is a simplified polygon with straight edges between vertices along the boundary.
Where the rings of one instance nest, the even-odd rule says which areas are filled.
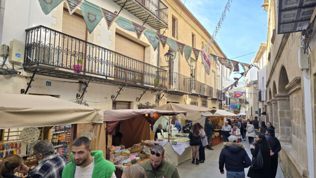
[[[211,35],[227,3],[227,0],[181,1]],[[267,11],[261,7],[263,1],[232,0],[230,3],[230,11],[226,11],[226,18],[216,35],[216,42],[227,58],[255,52],[262,42],[267,41]],[[234,60],[249,64],[255,54]],[[241,66],[239,68],[243,70]],[[232,72],[230,78],[233,80],[233,77],[240,77],[240,74]]]

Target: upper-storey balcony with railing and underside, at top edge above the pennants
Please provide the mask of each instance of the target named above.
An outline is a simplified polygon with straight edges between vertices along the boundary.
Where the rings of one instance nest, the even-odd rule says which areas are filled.
[[[161,0],[113,0],[155,29],[168,27],[168,7]]]

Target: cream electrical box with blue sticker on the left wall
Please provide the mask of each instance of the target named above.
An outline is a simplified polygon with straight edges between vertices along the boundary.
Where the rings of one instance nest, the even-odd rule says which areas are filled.
[[[9,61],[12,63],[23,63],[25,43],[13,39],[10,41]]]

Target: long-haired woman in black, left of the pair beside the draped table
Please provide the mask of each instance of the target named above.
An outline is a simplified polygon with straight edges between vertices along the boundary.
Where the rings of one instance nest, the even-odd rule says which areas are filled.
[[[198,150],[200,148],[201,142],[201,131],[199,128],[199,123],[192,126],[191,132],[189,133],[190,146],[192,147],[192,164],[198,165]]]

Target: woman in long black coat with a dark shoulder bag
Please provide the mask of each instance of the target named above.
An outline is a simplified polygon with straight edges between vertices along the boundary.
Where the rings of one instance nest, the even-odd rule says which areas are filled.
[[[258,153],[259,148],[261,148],[261,155],[263,158],[263,168],[255,170],[252,167],[249,168],[247,176],[249,178],[269,178],[270,177],[270,146],[266,140],[266,137],[263,134],[258,134],[255,137],[256,143],[255,148],[253,145],[250,145],[250,151],[252,159],[254,159]]]

